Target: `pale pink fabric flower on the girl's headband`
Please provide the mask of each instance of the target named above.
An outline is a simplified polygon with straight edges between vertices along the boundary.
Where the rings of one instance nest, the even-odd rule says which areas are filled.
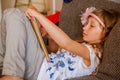
[[[90,14],[96,10],[95,7],[90,7],[90,8],[87,8],[85,13],[82,14],[81,16],[81,23],[84,25],[86,22],[87,22],[87,19],[88,17],[90,16]]]

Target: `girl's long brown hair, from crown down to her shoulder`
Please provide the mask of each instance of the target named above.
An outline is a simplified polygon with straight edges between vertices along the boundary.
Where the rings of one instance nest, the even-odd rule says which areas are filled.
[[[96,55],[101,58],[103,53],[103,46],[104,41],[106,40],[107,36],[109,35],[112,28],[115,26],[115,24],[118,21],[119,13],[114,10],[105,10],[105,9],[96,9],[93,12],[96,16],[98,16],[102,22],[105,24],[105,27],[102,27],[104,38],[100,43],[94,43],[93,48],[96,51]]]

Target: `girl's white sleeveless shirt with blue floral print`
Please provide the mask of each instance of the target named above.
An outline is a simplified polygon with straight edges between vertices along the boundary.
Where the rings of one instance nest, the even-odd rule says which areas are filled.
[[[58,50],[56,54],[51,53],[49,55],[50,62],[44,59],[37,80],[65,80],[90,75],[99,64],[99,59],[90,45],[84,45],[90,51],[91,65],[89,67],[84,64],[82,57],[74,55],[69,51],[61,53]]]

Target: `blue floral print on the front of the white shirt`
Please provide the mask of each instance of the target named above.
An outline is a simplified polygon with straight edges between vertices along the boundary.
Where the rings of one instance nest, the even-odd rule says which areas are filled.
[[[70,57],[76,57],[75,55],[69,53]],[[75,68],[72,65],[75,63],[71,58],[66,57],[65,54],[56,54],[56,56],[50,58],[49,66],[46,70],[50,71],[50,78],[53,78],[55,74],[55,70],[59,70],[60,68],[66,68],[68,71],[74,71]],[[66,66],[67,65],[67,66]],[[55,70],[54,70],[55,69]],[[61,75],[63,72],[60,73]]]

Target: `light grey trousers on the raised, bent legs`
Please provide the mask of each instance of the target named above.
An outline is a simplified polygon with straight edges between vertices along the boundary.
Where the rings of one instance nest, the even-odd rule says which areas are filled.
[[[31,23],[23,12],[12,8],[4,12],[1,24],[2,74],[36,80],[44,55]]]

